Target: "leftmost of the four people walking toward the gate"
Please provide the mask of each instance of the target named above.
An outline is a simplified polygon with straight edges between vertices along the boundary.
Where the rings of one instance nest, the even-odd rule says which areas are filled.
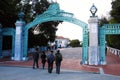
[[[39,60],[39,48],[36,48],[35,53],[33,53],[33,69],[35,69],[35,65],[36,68],[39,68],[38,60]]]

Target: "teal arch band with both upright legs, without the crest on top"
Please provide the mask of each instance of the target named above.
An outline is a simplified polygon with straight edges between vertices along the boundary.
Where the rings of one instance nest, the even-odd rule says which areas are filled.
[[[53,17],[45,17],[45,18],[40,18],[39,20],[35,20],[31,22],[30,24],[26,25],[25,30],[24,30],[24,57],[27,56],[27,45],[28,45],[28,30],[36,26],[37,24],[43,23],[43,22],[48,22],[48,21],[67,21],[73,24],[76,24],[78,26],[81,26],[83,28],[83,54],[82,54],[82,63],[85,63],[88,61],[88,25],[78,19],[71,18],[71,17],[66,17],[66,16],[53,16]]]

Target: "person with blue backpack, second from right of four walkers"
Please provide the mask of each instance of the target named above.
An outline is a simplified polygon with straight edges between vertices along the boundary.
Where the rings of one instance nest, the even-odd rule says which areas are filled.
[[[48,73],[52,73],[54,60],[55,57],[53,55],[53,51],[51,51],[51,53],[48,53],[47,55]]]

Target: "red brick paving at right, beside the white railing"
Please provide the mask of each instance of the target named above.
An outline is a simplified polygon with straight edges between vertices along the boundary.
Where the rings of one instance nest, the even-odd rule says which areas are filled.
[[[118,75],[120,76],[120,57],[110,53],[108,51],[107,55],[107,65],[102,66],[106,74]]]

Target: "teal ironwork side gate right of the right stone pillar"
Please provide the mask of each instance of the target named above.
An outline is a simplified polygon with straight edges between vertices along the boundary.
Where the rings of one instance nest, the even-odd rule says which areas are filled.
[[[99,28],[99,43],[100,43],[100,61],[106,63],[105,48],[106,48],[106,35],[120,34],[120,24],[104,24]]]

